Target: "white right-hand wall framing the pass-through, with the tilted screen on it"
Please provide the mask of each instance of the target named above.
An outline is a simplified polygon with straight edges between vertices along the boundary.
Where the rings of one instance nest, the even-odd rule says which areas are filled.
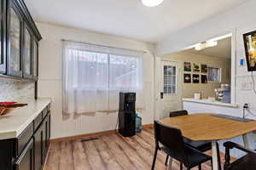
[[[253,20],[256,17],[255,13],[256,1],[250,0],[237,8],[233,8],[224,14],[218,14],[208,20],[197,23],[195,26],[190,26],[181,31],[177,31],[160,42],[157,46],[157,54],[169,54],[187,48],[197,42],[204,42],[212,37],[218,37],[230,32],[234,33],[236,41],[233,45],[236,47],[236,58],[232,60],[232,67],[235,68],[234,81],[235,88],[235,103],[240,107],[230,109],[225,112],[232,116],[242,116],[242,105],[245,103],[251,104],[250,110],[256,115],[256,94],[253,93],[253,82],[251,73],[247,72],[247,67],[238,66],[239,59],[245,59],[245,51],[243,46],[242,34],[248,31],[255,31],[256,24]],[[254,73],[255,74],[255,73]],[[256,78],[254,76],[254,78]],[[211,108],[201,108],[207,112],[211,112]],[[219,109],[221,111],[222,109]],[[219,112],[214,111],[214,112]],[[247,113],[248,114],[248,113]],[[256,118],[249,115],[249,118]],[[235,139],[235,141],[237,141]],[[241,140],[239,141],[241,143]],[[251,139],[255,144],[255,140]],[[255,147],[254,147],[255,148]]]

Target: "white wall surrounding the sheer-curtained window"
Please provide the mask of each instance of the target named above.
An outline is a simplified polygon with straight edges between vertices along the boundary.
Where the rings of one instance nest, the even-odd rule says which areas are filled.
[[[52,138],[112,130],[117,113],[95,113],[75,117],[62,117],[61,112],[61,39],[92,42],[117,48],[147,51],[144,54],[145,110],[143,124],[154,120],[154,45],[122,37],[113,37],[90,31],[37,23],[43,40],[39,43],[38,95],[52,97]]]

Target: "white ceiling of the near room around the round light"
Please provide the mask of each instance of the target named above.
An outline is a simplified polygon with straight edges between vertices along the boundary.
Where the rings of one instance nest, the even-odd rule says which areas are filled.
[[[24,1],[37,21],[159,42],[247,0],[165,0],[154,8],[143,6],[141,0]]]

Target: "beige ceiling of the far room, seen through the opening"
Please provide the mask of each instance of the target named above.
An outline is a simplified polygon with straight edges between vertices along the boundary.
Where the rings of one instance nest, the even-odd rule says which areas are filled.
[[[185,53],[201,54],[212,57],[231,59],[231,37],[224,38],[218,41],[218,46],[212,48],[205,48],[200,51],[196,51],[195,48],[184,50]]]

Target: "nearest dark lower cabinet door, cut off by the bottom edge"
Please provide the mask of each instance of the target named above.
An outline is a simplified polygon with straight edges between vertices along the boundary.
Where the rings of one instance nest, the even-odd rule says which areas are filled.
[[[25,150],[15,161],[15,170],[34,170],[33,139],[26,145]]]

